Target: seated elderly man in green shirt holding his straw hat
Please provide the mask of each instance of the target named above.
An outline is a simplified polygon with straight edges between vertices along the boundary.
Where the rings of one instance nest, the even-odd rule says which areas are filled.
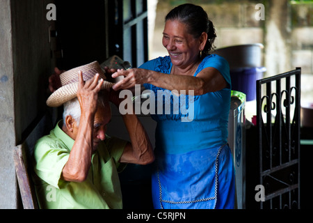
[[[102,91],[111,85],[101,77],[105,79],[97,62],[64,72],[63,86],[47,100],[52,107],[64,104],[64,113],[63,121],[34,148],[33,180],[40,208],[122,208],[118,171],[125,163],[154,160],[135,114],[122,117],[131,142],[106,135],[111,121],[108,97],[117,106],[121,100],[116,93]]]

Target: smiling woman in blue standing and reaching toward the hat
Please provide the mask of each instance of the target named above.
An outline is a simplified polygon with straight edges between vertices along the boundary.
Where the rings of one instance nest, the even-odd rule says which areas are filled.
[[[174,8],[166,16],[163,46],[169,56],[147,61],[138,69],[118,70],[125,76],[114,90],[143,84],[157,91],[186,92],[194,114],[182,122],[182,111],[152,114],[157,121],[156,162],[152,174],[155,208],[234,208],[234,165],[227,145],[230,111],[230,70],[213,49],[216,33],[207,13],[193,4]],[[184,91],[182,91],[184,90]],[[154,98],[154,97],[153,97]],[[190,113],[190,112],[189,112]]]

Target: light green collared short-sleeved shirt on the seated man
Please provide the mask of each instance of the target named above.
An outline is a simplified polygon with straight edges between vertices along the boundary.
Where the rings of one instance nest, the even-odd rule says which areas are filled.
[[[61,179],[74,140],[61,128],[61,121],[34,148],[33,181],[40,208],[122,208],[118,162],[127,141],[106,136],[92,156],[88,178],[82,183]]]

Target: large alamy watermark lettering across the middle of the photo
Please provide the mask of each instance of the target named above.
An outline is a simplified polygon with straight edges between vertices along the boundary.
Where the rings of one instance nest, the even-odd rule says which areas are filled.
[[[135,95],[130,90],[120,91],[120,98],[125,98],[120,103],[119,111],[120,114],[182,114],[182,122],[191,122],[194,117],[194,91],[189,90],[186,95],[186,90],[157,90],[154,93],[152,90],[145,90],[141,93],[141,85],[135,85]],[[148,99],[141,102],[141,99],[148,95]],[[156,100],[157,97],[157,100]],[[135,98],[135,103],[130,98]],[[157,104],[157,109],[156,109]],[[135,106],[135,107],[134,107]],[[157,111],[156,111],[157,110]]]

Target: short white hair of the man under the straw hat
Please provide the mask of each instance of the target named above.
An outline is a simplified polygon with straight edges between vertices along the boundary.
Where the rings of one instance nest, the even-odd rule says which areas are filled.
[[[97,105],[103,107],[109,106],[109,101],[104,91],[100,91],[98,93]],[[66,117],[72,116],[72,118],[74,118],[74,120],[77,122],[77,126],[79,126],[79,121],[81,119],[81,105],[79,104],[78,98],[74,98],[68,102],[65,102],[63,107],[63,125],[66,125]]]

